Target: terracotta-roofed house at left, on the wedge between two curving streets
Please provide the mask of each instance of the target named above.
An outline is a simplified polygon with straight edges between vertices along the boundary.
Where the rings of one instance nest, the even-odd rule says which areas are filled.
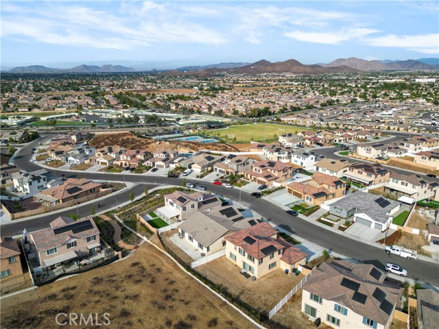
[[[69,178],[62,185],[47,188],[34,195],[34,202],[47,206],[62,204],[98,193],[100,188],[102,188],[101,183],[95,183],[86,178]]]

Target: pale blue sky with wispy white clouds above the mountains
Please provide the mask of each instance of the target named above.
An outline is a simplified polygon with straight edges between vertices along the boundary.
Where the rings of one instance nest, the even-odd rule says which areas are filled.
[[[439,56],[439,1],[2,0],[0,7],[3,66]]]

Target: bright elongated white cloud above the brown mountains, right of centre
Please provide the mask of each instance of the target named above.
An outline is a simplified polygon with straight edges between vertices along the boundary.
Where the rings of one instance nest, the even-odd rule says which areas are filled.
[[[304,32],[292,31],[285,33],[285,36],[298,41],[323,43],[327,45],[340,45],[340,43],[348,40],[362,38],[368,34],[379,32],[377,29],[365,28],[344,28],[335,32]]]

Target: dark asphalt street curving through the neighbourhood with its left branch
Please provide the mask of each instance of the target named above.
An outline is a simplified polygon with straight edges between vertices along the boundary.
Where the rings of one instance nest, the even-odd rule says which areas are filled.
[[[21,149],[19,155],[16,157],[16,165],[24,170],[32,171],[36,169],[40,169],[38,165],[29,162],[31,158],[31,148],[36,145],[38,141],[35,141],[28,145],[27,147],[23,147]],[[73,177],[70,171],[59,171],[57,170],[58,175],[64,174],[69,177]],[[80,173],[80,177],[82,178],[90,178],[95,180],[123,180],[121,174],[112,174],[112,173]],[[147,175],[134,175],[134,174],[126,174],[125,175],[126,182],[139,182],[145,183],[151,186],[150,184],[182,184],[182,180],[180,178],[163,178],[163,177],[153,177]],[[192,184],[197,184],[198,182],[195,180],[187,179],[187,182],[191,182]],[[208,191],[211,193],[219,193],[224,195],[225,197],[229,197],[231,199],[239,199],[239,190],[235,188],[224,188],[224,186],[217,186],[208,182],[202,182],[204,186],[208,188]],[[143,184],[140,184],[138,193],[143,192]],[[128,193],[125,195],[121,195],[119,197],[119,202],[128,200]],[[138,195],[138,194],[137,194]],[[300,217],[291,217],[287,215],[284,210],[278,208],[278,206],[268,202],[266,199],[254,199],[248,193],[241,191],[241,203],[246,204],[249,208],[258,212],[264,218],[270,219],[277,226],[281,226],[285,230],[289,230],[290,232],[294,232],[298,236],[301,236],[303,239],[307,241],[311,241],[313,243],[317,243],[326,249],[331,249],[338,254],[342,254],[344,256],[348,256],[351,258],[355,258],[364,263],[372,263],[383,269],[385,263],[396,263],[401,267],[407,269],[410,278],[414,278],[416,280],[420,280],[423,282],[428,282],[430,284],[434,284],[439,286],[439,263],[431,263],[425,260],[406,260],[405,258],[401,258],[399,256],[388,256],[384,252],[383,247],[376,247],[375,245],[369,245],[367,243],[362,243],[361,241],[356,241],[355,239],[351,239],[350,237],[339,234],[338,232],[334,232],[327,228],[321,228],[320,226],[316,226],[309,221],[302,219]],[[84,206],[83,209],[80,209],[80,215],[89,215],[91,204],[88,206]],[[97,202],[94,205],[97,209]],[[108,206],[107,204],[104,207]],[[112,204],[114,206],[114,204]],[[88,208],[90,207],[90,208]],[[82,207],[80,207],[82,208]],[[110,208],[110,206],[108,206]],[[105,208],[104,208],[105,209]],[[72,210],[67,210],[67,213],[72,213]],[[54,215],[55,217],[60,214]],[[54,218],[55,218],[54,217]],[[42,217],[38,219],[32,219],[29,221],[25,221],[25,228],[28,231],[34,230],[34,228],[43,228],[47,227],[51,218],[49,216]],[[2,235],[13,235],[20,234],[23,230],[23,223],[11,223],[8,225],[1,226]]]

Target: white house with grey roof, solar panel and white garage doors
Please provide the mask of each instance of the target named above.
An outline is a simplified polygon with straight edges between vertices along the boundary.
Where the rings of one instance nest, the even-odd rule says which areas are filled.
[[[346,219],[353,216],[355,223],[383,232],[392,223],[392,215],[400,206],[399,202],[381,195],[357,192],[330,204],[329,212]]]

